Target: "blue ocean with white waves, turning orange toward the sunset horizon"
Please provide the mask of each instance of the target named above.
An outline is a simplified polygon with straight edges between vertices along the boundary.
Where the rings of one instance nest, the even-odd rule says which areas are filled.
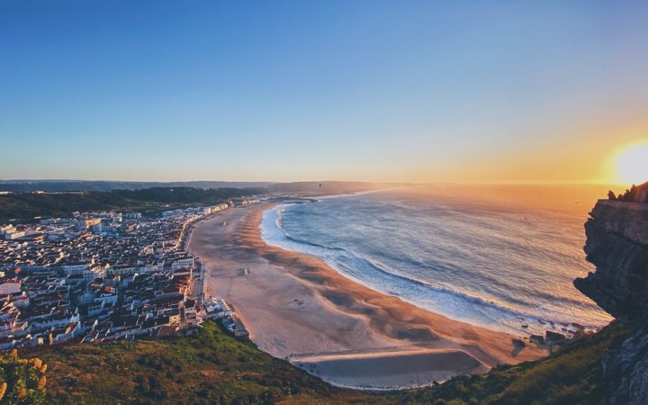
[[[269,245],[320,257],[378,292],[519,335],[600,329],[611,318],[573,286],[594,186],[435,186],[285,203]]]

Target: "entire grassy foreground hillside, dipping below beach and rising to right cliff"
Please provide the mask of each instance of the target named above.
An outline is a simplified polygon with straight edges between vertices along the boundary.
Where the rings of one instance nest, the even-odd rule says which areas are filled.
[[[207,322],[199,336],[73,344],[31,352],[50,365],[49,403],[603,403],[600,359],[626,330],[611,326],[536,362],[421,390],[331,387]]]

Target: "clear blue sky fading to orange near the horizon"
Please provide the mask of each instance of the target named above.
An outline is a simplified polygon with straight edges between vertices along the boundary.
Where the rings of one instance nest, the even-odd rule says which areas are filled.
[[[610,183],[648,141],[646,22],[645,1],[3,0],[0,179]]]

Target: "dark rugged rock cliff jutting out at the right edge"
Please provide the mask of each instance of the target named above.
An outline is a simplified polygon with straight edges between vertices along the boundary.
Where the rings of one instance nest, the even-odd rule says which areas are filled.
[[[599,201],[585,224],[597,267],[574,285],[634,331],[604,360],[610,403],[648,403],[648,204]]]

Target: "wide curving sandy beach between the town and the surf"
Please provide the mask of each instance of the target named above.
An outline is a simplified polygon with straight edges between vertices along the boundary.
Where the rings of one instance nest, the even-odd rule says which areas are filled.
[[[373,389],[426,385],[546,355],[535,345],[516,348],[517,336],[377,293],[317,257],[267,246],[259,224],[271,207],[224,211],[196,224],[189,240],[205,266],[205,296],[231,302],[266,353],[329,383]]]

